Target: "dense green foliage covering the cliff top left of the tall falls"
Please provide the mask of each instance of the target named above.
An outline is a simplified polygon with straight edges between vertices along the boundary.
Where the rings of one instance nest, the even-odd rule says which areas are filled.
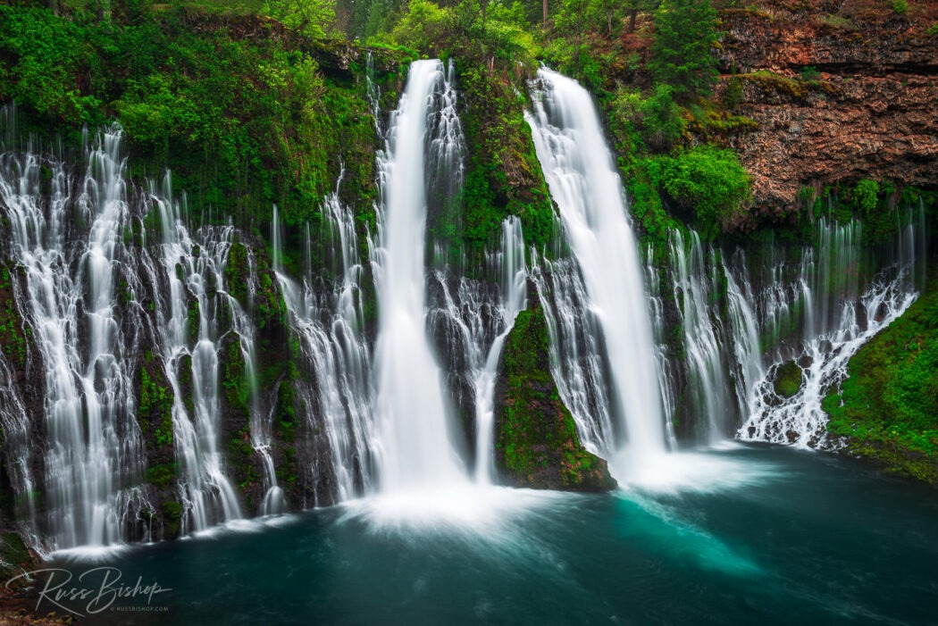
[[[286,32],[252,14],[259,4],[121,4],[111,22],[81,7],[0,7],[0,97],[64,134],[116,114],[131,175],[169,167],[199,215],[256,226],[277,203],[288,226],[315,222],[343,163],[355,182],[342,200],[369,213],[376,138],[363,83],[326,80],[314,58],[360,52],[309,37],[321,12],[292,21],[311,0],[267,3],[297,29]]]

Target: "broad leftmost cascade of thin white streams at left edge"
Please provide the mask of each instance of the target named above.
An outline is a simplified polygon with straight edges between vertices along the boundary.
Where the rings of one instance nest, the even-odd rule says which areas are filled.
[[[129,216],[119,146],[119,127],[101,134],[75,198],[53,163],[48,201],[38,157],[4,157],[0,193],[25,274],[20,308],[45,370],[50,548],[125,541],[128,515],[149,508],[127,486],[139,484],[143,455],[133,419],[137,350],[115,311]]]

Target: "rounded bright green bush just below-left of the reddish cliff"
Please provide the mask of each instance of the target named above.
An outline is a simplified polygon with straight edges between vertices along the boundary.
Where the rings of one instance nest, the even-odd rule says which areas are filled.
[[[749,174],[732,150],[681,149],[648,157],[645,167],[655,186],[693,209],[698,228],[711,237],[740,217],[751,200]]]

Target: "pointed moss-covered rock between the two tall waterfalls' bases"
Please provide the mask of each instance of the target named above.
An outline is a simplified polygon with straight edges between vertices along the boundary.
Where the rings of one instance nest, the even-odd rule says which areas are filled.
[[[495,466],[503,483],[608,491],[606,461],[587,452],[554,382],[547,321],[537,299],[508,334],[495,383]]]

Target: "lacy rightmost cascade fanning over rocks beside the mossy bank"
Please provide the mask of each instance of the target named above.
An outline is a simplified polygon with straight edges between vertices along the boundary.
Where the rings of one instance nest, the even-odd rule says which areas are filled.
[[[792,397],[779,397],[769,380],[761,381],[739,439],[801,447],[837,445],[827,438],[821,402],[846,377],[856,350],[897,319],[922,286],[927,254],[924,212],[910,206],[897,211],[897,219],[903,214],[907,224],[898,228],[892,253],[875,274],[873,260],[862,252],[856,220],[840,225],[818,219],[815,246],[803,251],[794,287],[785,287],[779,271],[783,261],[773,261],[779,265],[770,272],[772,283],[756,298],[768,329],[763,336],[779,339],[770,373],[782,361],[794,359],[802,368],[801,387]],[[800,341],[786,341],[782,328],[797,328],[799,312]]]

